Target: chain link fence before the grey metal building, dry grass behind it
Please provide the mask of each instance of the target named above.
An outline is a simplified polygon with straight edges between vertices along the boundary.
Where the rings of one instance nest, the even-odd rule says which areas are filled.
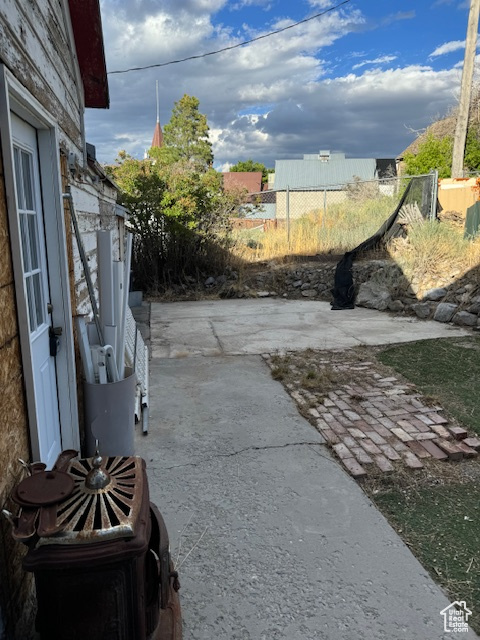
[[[408,188],[409,187],[409,188]],[[407,189],[408,188],[408,189]],[[271,252],[281,251],[280,242],[287,243],[287,251],[336,251],[352,248],[374,234],[397,209],[398,222],[414,222],[420,218],[433,219],[437,212],[438,174],[402,176],[378,180],[355,179],[347,184],[323,187],[273,189],[251,194],[242,207],[235,228],[244,229],[249,246],[255,243],[266,248],[266,236],[272,230],[277,237]],[[257,236],[253,239],[250,232]],[[317,249],[316,249],[317,247]],[[260,252],[257,257],[260,257]],[[270,251],[267,251],[270,253]]]

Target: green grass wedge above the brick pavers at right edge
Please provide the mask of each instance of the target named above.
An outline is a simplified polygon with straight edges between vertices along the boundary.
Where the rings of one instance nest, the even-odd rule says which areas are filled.
[[[480,338],[410,342],[386,349],[377,357],[480,434]]]

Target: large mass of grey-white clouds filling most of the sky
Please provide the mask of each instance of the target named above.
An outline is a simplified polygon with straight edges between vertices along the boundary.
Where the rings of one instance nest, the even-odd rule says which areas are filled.
[[[314,2],[323,6],[322,0]],[[109,70],[213,51],[241,42],[246,33],[255,37],[292,23],[277,18],[262,31],[234,28],[215,22],[222,7],[228,8],[227,0],[103,0]],[[247,158],[273,166],[275,159],[320,148],[395,156],[411,141],[404,124],[419,129],[447,111],[460,71],[399,63],[383,70],[381,65],[397,58],[374,57],[358,44],[348,55],[358,63],[356,73],[330,77],[329,65],[338,62],[330,48],[365,25],[364,15],[349,8],[216,56],[110,75],[111,108],[88,110],[88,139],[101,161],[112,162],[122,148],[143,157],[155,126],[158,80],[162,125],[184,93],[198,97],[219,166]]]

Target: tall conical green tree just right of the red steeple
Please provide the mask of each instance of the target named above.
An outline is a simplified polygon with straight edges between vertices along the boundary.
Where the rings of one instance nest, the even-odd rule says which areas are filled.
[[[213,164],[213,152],[207,118],[199,112],[199,105],[198,98],[187,94],[176,102],[170,122],[163,129],[163,141],[176,160],[206,170]]]

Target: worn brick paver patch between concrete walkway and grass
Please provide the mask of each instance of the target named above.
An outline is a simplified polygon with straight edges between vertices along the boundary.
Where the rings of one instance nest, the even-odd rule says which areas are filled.
[[[271,356],[265,356],[273,369]],[[461,460],[478,455],[480,439],[450,424],[439,406],[428,406],[413,384],[384,377],[372,362],[332,364],[344,379],[325,397],[302,388],[300,375],[285,384],[301,412],[315,424],[346,469],[361,478],[369,471],[391,472],[397,465],[421,469],[423,460]],[[297,365],[293,374],[301,374]],[[360,381],[360,382],[359,382]]]

